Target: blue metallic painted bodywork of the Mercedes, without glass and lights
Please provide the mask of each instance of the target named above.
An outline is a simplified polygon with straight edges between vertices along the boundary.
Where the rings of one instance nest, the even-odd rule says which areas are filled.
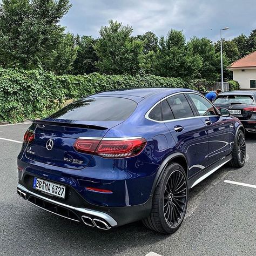
[[[143,91],[144,90],[144,91]],[[200,172],[204,167],[219,160],[232,151],[234,132],[240,122],[229,117],[210,117],[212,125],[206,126],[205,118],[174,120],[173,122],[156,123],[145,118],[145,113],[160,99],[177,92],[191,92],[186,89],[142,89],[117,90],[98,93],[93,97],[111,95],[125,97],[137,102],[136,110],[124,122],[77,122],[107,127],[106,130],[67,128],[62,126],[37,125],[34,143],[41,145],[41,150],[31,145],[22,146],[18,156],[19,180],[27,174],[72,186],[88,203],[99,206],[122,207],[144,204],[150,198],[152,188],[159,177],[159,167],[165,159],[173,154],[184,154],[187,161],[188,178]],[[136,95],[137,94],[137,95]],[[45,118],[51,120],[52,118]],[[55,120],[67,122],[67,120]],[[175,125],[183,125],[184,131],[177,133]],[[233,128],[230,126],[233,125]],[[34,129],[32,127],[32,129]],[[78,137],[142,137],[147,144],[138,156],[123,159],[105,159],[99,156],[77,153],[73,142]],[[46,152],[44,145],[51,138],[56,145],[63,147],[63,152]],[[207,146],[210,140],[209,147]],[[227,142],[223,152],[214,144],[214,140]],[[212,143],[211,143],[212,142]],[[224,143],[225,144],[225,143]],[[35,150],[35,154],[28,152]],[[223,147],[222,145],[220,146]],[[217,150],[217,151],[216,151]],[[218,151],[219,150],[219,151]],[[214,157],[212,152],[218,152]],[[83,165],[61,161],[65,155],[81,159]],[[44,159],[43,159],[44,157]],[[211,159],[209,161],[209,159]],[[202,167],[203,166],[203,167]],[[157,175],[158,172],[158,175]],[[85,189],[86,186],[107,189],[112,194],[95,193]]]

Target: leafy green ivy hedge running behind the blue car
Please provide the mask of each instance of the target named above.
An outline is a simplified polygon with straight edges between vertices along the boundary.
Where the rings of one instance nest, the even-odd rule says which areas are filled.
[[[43,70],[0,68],[0,122],[22,122],[43,118],[55,112],[69,99],[78,99],[96,92],[126,87],[200,88],[196,81],[163,78],[152,75],[90,75],[56,76]]]

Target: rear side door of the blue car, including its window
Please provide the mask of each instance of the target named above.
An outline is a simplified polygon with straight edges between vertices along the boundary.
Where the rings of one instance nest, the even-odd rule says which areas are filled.
[[[178,93],[162,101],[163,120],[180,152],[184,153],[188,164],[188,177],[204,169],[207,165],[208,137],[206,125],[194,116],[191,105],[183,93]],[[167,113],[169,117],[166,118]]]

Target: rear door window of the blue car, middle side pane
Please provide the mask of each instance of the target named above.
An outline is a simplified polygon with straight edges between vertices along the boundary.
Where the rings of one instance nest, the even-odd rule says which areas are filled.
[[[169,103],[172,109],[174,118],[177,119],[194,116],[190,104],[188,104],[187,99],[183,94],[171,96],[167,99],[167,102]]]

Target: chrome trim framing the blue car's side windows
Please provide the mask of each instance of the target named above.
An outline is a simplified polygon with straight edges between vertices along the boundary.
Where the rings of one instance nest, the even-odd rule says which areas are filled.
[[[201,118],[201,117],[219,117],[217,114],[214,114],[212,116],[193,116],[193,117],[184,117],[184,118],[177,118],[177,119],[171,119],[171,120],[164,120],[164,121],[157,121],[157,120],[154,120],[154,119],[151,119],[149,117],[149,114],[150,112],[153,110],[153,108],[155,106],[157,106],[160,102],[163,102],[164,100],[172,97],[172,96],[175,96],[175,95],[179,95],[179,94],[188,94],[188,93],[192,93],[192,94],[196,94],[196,95],[199,95],[202,97],[202,95],[198,92],[176,92],[176,93],[173,93],[172,95],[168,95],[166,97],[164,97],[163,99],[160,99],[156,104],[154,104],[145,114],[145,118],[147,120],[151,120],[153,122],[156,122],[156,123],[170,123],[170,122],[173,122],[173,121],[180,121],[180,120],[187,120],[187,119],[193,119],[193,118]],[[205,98],[206,100],[208,100],[207,98]],[[208,100],[208,102],[210,102],[210,100]],[[211,102],[210,102],[211,103]],[[212,104],[212,103],[211,103]],[[212,104],[213,105],[213,104]],[[214,109],[216,110],[216,107],[213,105]],[[219,112],[219,111],[218,111]]]

